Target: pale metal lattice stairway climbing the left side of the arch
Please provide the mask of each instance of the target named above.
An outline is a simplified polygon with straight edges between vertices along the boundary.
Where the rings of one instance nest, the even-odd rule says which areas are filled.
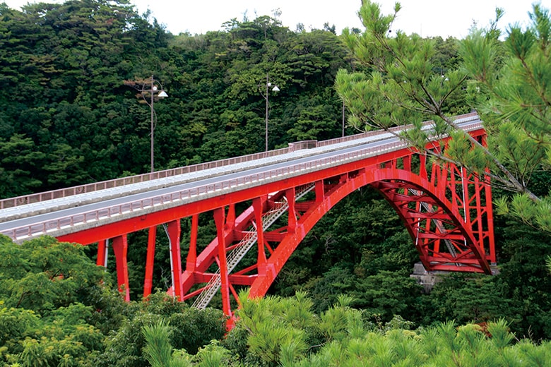
[[[296,199],[302,198],[302,196],[306,195],[309,191],[312,191],[312,188],[314,188],[314,184],[309,184],[302,186],[300,190],[295,195]],[[272,210],[269,212],[266,212],[262,216],[262,227],[264,230],[268,229],[281,215],[283,215],[284,212],[286,212],[289,209],[289,204],[287,202],[287,199],[284,198],[283,202],[278,202],[275,204],[275,207],[273,207]],[[253,229],[254,231],[249,231],[247,235],[243,237],[239,243],[237,243],[237,246],[230,251],[230,253],[227,255],[227,272],[231,272],[235,269],[239,261],[244,258],[245,255],[249,252],[249,250],[252,248],[254,243],[259,238],[259,234],[256,231],[256,225],[253,222]],[[205,289],[199,294],[199,296],[194,301],[192,307],[199,308],[200,310],[203,310],[208,306],[208,303],[211,302],[214,295],[220,289],[220,286],[222,284],[222,280],[220,277],[220,267],[216,272],[214,273],[213,277],[211,277],[211,280],[206,284]]]

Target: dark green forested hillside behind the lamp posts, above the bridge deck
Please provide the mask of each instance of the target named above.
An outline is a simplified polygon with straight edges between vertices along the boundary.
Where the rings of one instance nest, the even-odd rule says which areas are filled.
[[[340,136],[333,83],[350,61],[333,33],[262,16],[174,36],[127,3],[0,8],[0,197],[148,172],[149,107],[124,80],[151,75],[170,95],[156,169],[262,151],[268,73],[269,148]]]

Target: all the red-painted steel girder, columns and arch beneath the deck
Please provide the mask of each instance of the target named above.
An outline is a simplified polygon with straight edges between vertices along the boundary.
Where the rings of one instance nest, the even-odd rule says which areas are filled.
[[[482,129],[471,135],[485,143]],[[435,149],[440,149],[439,145]],[[251,297],[266,294],[316,222],[340,200],[367,185],[376,188],[401,217],[426,270],[490,274],[490,264],[496,258],[488,180],[453,164],[428,164],[425,155],[404,148],[85,229],[59,236],[59,240],[99,242],[97,263],[103,264],[105,240],[112,239],[119,289],[129,299],[126,235],[149,230],[143,289],[148,296],[153,282],[155,228],[167,224],[175,285],[169,294],[182,301],[193,300],[213,287],[208,284],[213,277],[219,277],[222,308],[231,317],[238,305],[239,287],[250,287]],[[312,191],[299,199],[300,193],[310,188]],[[282,205],[288,206],[286,215],[266,227],[267,216]],[[236,207],[247,209],[236,213]],[[213,215],[216,226],[213,241],[202,250],[197,246],[199,215]],[[184,241],[183,268],[179,221],[186,217],[191,217],[191,236]],[[237,243],[251,233],[256,235],[256,246],[244,255],[244,265],[230,264]]]

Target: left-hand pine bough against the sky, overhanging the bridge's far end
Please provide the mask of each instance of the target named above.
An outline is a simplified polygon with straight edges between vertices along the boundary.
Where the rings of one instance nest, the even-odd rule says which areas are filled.
[[[383,16],[378,4],[363,1],[360,18],[365,32],[343,31],[357,63],[366,68],[365,72],[339,71],[336,78],[338,93],[352,114],[349,122],[356,128],[389,128],[461,113],[450,108],[461,108],[458,90],[465,80],[450,68],[457,54],[453,42],[448,42],[445,57],[442,52],[437,54],[442,49],[441,39],[408,37],[399,30],[393,37],[389,30],[399,10],[398,4],[393,15]],[[422,146],[422,141],[412,143]]]

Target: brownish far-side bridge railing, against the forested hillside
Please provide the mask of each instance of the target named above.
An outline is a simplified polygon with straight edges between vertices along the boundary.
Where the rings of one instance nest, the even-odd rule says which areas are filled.
[[[475,119],[475,118],[478,118],[478,114],[476,112],[473,112],[470,114],[456,116],[454,119],[456,119],[457,121],[458,119],[465,120],[465,119]],[[424,124],[431,124],[431,123],[432,121],[426,121]],[[390,130],[401,131],[404,128],[409,128],[411,126],[413,125],[396,126],[395,128],[391,128]],[[162,171],[150,172],[147,174],[138,174],[135,176],[122,177],[120,179],[112,179],[112,180],[100,181],[95,183],[86,183],[84,185],[73,186],[70,188],[61,188],[58,190],[45,191],[42,193],[21,195],[21,196],[17,196],[16,198],[1,199],[0,210],[8,207],[17,207],[20,205],[40,203],[42,201],[47,201],[47,200],[66,198],[72,195],[78,195],[82,193],[91,193],[94,191],[105,190],[107,188],[116,188],[116,187],[126,186],[133,183],[141,183],[145,181],[152,181],[155,179],[164,179],[171,176],[178,176],[181,174],[189,174],[191,172],[203,171],[205,169],[213,169],[217,167],[228,166],[230,164],[238,164],[242,162],[249,162],[252,160],[259,160],[266,157],[275,157],[278,155],[283,155],[288,152],[293,152],[295,150],[300,150],[300,149],[325,147],[328,145],[345,143],[352,140],[367,138],[369,136],[376,136],[382,133],[384,133],[384,131],[368,131],[367,133],[360,133],[352,136],[345,136],[342,138],[335,138],[335,139],[324,140],[320,142],[317,140],[306,140],[304,142],[290,143],[290,146],[288,148],[268,150],[268,152],[253,153],[250,155],[242,155],[239,157],[227,158],[225,160],[217,160],[213,162],[193,164],[191,166],[178,167],[174,169],[165,169]]]

